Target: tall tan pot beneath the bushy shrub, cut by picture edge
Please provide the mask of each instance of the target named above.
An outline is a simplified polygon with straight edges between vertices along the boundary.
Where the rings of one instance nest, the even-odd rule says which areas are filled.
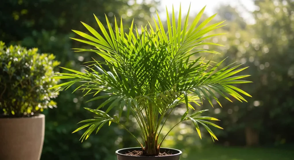
[[[45,115],[0,118],[0,159],[39,160],[44,142]]]

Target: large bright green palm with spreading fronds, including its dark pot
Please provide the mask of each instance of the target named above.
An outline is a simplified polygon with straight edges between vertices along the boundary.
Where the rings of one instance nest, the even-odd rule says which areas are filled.
[[[102,35],[85,23],[83,25],[92,35],[73,30],[86,40],[72,39],[93,46],[92,49],[76,49],[77,52],[95,52],[105,60],[99,62],[94,59],[84,72],[64,68],[71,73],[60,73],[56,76],[58,79],[70,81],[53,88],[63,90],[81,82],[76,90],[85,91],[85,95],[92,94],[94,97],[89,101],[106,99],[96,109],[85,108],[95,113],[96,117],[81,121],[86,124],[74,131],[88,127],[81,137],[82,141],[91,133],[97,133],[103,125],[116,123],[127,130],[139,145],[137,148],[116,151],[118,160],[178,160],[181,151],[161,147],[169,132],[160,135],[173,109],[180,104],[185,105],[186,112],[176,125],[192,121],[200,138],[200,126],[203,126],[212,139],[217,140],[208,125],[222,128],[208,120],[218,119],[199,117],[206,110],[196,112],[190,103],[200,105],[204,99],[211,105],[213,99],[219,103],[216,94],[229,101],[231,97],[246,101],[240,93],[250,95],[232,84],[248,83],[249,81],[240,80],[248,75],[234,76],[246,69],[239,69],[241,64],[230,64],[216,70],[223,61],[213,65],[211,61],[199,56],[202,52],[219,54],[213,50],[203,49],[201,45],[218,45],[203,40],[220,35],[207,33],[221,27],[223,22],[206,26],[215,16],[213,15],[198,24],[203,8],[188,27],[189,11],[183,24],[181,9],[177,23],[174,11],[171,18],[167,11],[167,31],[164,30],[158,14],[158,21],[154,18],[154,26],[149,23],[145,27],[137,28],[132,22],[128,32],[123,30],[122,19],[120,24],[115,19],[112,29],[106,17],[106,29],[95,15]],[[198,57],[192,59],[193,56]],[[108,113],[113,109],[116,110],[116,115],[111,116]],[[121,117],[126,116],[128,119],[129,115],[136,119],[142,131],[143,142],[140,142],[122,123]],[[174,127],[171,127],[171,130]]]

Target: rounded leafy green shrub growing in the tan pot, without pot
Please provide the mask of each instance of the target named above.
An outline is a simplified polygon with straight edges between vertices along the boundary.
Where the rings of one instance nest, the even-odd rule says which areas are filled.
[[[56,107],[58,92],[48,90],[58,79],[51,79],[59,65],[52,54],[39,54],[37,48],[6,47],[0,41],[0,110],[5,116],[31,116]]]

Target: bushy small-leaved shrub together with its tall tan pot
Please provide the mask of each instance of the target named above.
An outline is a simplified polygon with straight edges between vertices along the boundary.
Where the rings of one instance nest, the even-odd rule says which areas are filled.
[[[54,55],[39,54],[37,48],[6,47],[0,41],[0,159],[39,160],[44,141],[45,108],[56,107],[58,95],[49,88]]]

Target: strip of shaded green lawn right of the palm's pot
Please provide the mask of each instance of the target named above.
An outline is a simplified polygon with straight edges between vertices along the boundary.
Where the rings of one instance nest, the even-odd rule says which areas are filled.
[[[184,158],[185,157],[185,158]],[[214,146],[194,149],[181,160],[294,160],[294,148],[246,148]]]

